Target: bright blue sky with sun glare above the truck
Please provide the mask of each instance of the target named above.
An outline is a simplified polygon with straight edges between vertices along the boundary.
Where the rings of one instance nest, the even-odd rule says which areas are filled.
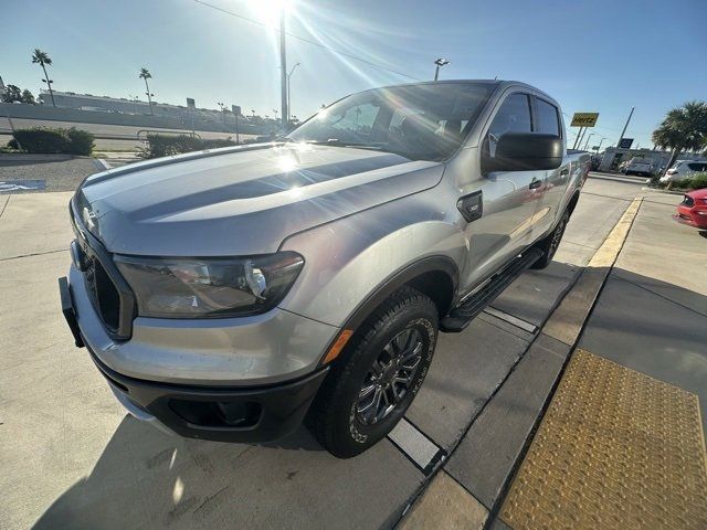
[[[265,0],[204,0],[268,23]],[[110,6],[110,8],[108,8]],[[119,7],[117,7],[119,6]],[[595,136],[626,131],[641,146],[665,113],[707,98],[706,0],[294,0],[288,31],[363,57],[373,67],[288,40],[293,114],[371,86],[443,78],[519,80],[556,97],[568,114],[599,112]],[[34,47],[54,61],[59,91],[143,95],[148,67],[159,102],[217,108],[217,102],[270,114],[279,108],[276,34],[193,0],[24,0],[0,15],[0,75],[38,92]],[[410,77],[398,75],[404,73]],[[635,144],[634,144],[635,145]]]

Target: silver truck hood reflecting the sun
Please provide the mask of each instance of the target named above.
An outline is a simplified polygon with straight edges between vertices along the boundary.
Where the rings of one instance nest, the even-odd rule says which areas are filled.
[[[374,150],[267,144],[97,173],[73,208],[109,252],[266,254],[288,235],[432,188],[443,171]]]

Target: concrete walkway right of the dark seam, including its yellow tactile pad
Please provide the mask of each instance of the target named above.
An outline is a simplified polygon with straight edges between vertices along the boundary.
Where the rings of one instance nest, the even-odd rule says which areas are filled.
[[[502,523],[707,528],[707,253],[672,212],[643,201]]]

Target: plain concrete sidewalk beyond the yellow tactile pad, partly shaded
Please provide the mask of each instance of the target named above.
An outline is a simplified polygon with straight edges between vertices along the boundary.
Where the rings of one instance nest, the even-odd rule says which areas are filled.
[[[699,396],[707,430],[707,240],[644,200],[579,347]]]

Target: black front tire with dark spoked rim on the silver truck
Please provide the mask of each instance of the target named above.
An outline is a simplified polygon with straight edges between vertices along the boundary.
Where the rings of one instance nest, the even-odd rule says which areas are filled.
[[[329,453],[338,458],[356,456],[398,424],[432,362],[437,318],[437,308],[428,296],[403,287],[356,331],[331,367],[306,420]]]

